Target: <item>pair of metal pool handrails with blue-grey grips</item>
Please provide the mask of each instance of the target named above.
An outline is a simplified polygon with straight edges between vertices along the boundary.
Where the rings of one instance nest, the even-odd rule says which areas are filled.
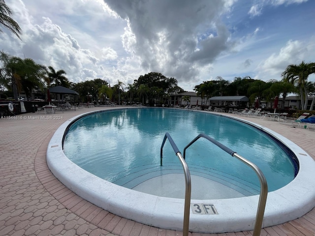
[[[257,207],[257,213],[256,213],[256,219],[255,219],[255,225],[253,230],[253,236],[259,236],[261,231],[261,226],[263,222],[265,207],[266,207],[266,201],[267,201],[267,194],[268,194],[268,185],[265,176],[261,172],[261,170],[252,162],[245,159],[241,155],[237,154],[235,151],[231,150],[230,148],[225,147],[220,142],[214,140],[213,138],[210,138],[208,135],[205,134],[199,134],[196,138],[194,138],[185,148],[184,148],[184,156],[182,156],[182,153],[177,148],[175,142],[173,141],[172,137],[169,133],[165,133],[161,150],[160,150],[160,165],[162,166],[162,160],[163,160],[163,147],[166,142],[166,139],[169,140],[175,154],[178,156],[180,162],[182,163],[184,174],[185,174],[185,182],[186,182],[186,190],[185,190],[185,205],[184,205],[184,223],[183,223],[183,236],[188,236],[189,234],[189,210],[190,210],[190,197],[191,197],[191,178],[189,173],[189,168],[186,163],[185,157],[186,157],[186,149],[189,148],[193,143],[195,143],[199,138],[205,138],[206,140],[210,141],[211,143],[215,144],[225,152],[229,153],[231,156],[236,157],[238,160],[242,161],[246,165],[252,168],[252,170],[256,173],[259,182],[260,182],[260,194],[259,194],[259,201],[258,201],[258,207]]]

